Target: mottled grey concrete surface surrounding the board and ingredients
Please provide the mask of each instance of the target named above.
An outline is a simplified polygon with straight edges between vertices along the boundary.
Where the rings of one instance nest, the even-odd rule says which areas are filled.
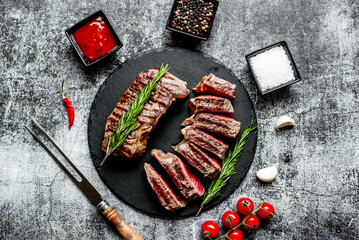
[[[172,1],[0,0],[0,238],[117,239],[109,225],[46,152],[25,132],[35,116],[70,159],[145,239],[201,239],[240,197],[273,203],[277,216],[247,239],[359,238],[359,2],[356,0],[221,1],[212,36],[193,41],[165,30]],[[104,9],[124,47],[86,69],[64,30]],[[286,40],[303,81],[261,96],[244,55]],[[118,200],[90,159],[87,119],[106,77],[126,59],[163,46],[202,51],[240,77],[261,124],[254,163],[241,186],[199,217],[153,218]],[[61,81],[76,109],[73,128]],[[274,131],[281,114],[292,130]],[[269,184],[255,171],[276,164]]]

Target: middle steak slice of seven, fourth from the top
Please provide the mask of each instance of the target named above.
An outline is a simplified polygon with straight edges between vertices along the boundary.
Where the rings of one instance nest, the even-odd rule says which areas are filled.
[[[222,160],[225,157],[228,145],[223,141],[192,126],[183,128],[181,132],[185,139],[188,139],[197,146],[213,153]]]

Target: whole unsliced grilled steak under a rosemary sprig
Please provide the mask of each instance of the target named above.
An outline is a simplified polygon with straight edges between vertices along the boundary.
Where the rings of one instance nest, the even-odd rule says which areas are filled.
[[[156,77],[158,70],[159,68],[155,68],[140,73],[118,101],[115,109],[107,118],[105,136],[102,142],[103,151],[106,151],[107,139],[116,129],[122,111],[128,110],[129,104],[133,103],[138,93]],[[122,146],[116,149],[113,154],[127,158],[141,156],[146,150],[150,133],[161,116],[166,113],[175,98],[185,98],[188,94],[187,83],[167,72],[157,83],[150,99],[138,115],[137,119],[140,126],[128,135]]]

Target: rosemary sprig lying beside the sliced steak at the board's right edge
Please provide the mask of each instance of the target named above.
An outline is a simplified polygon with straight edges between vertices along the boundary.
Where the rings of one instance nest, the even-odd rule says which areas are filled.
[[[251,123],[248,124],[246,129],[244,129],[241,138],[237,139],[234,149],[229,151],[227,157],[223,159],[222,170],[219,175],[211,182],[207,191],[204,193],[201,207],[199,208],[196,216],[201,213],[204,205],[209,203],[213,198],[221,195],[221,189],[226,185],[231,176],[236,173],[235,166],[239,156],[242,154],[243,146],[246,144],[246,139],[248,138],[249,134],[258,127],[256,126],[252,128],[252,125],[253,119]]]

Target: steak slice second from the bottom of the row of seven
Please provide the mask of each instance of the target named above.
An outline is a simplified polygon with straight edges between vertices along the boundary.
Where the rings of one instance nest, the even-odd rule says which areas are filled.
[[[165,154],[159,149],[152,149],[151,155],[156,158],[161,166],[167,171],[184,197],[193,200],[204,194],[204,188],[199,179],[187,169],[186,165],[179,157],[173,153]]]

